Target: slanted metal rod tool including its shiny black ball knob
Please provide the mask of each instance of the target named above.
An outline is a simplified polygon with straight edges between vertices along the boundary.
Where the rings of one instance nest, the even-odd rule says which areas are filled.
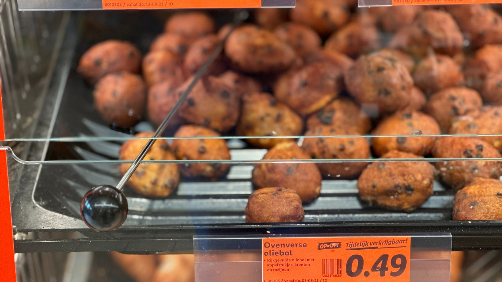
[[[124,223],[124,221],[126,221],[129,207],[126,196],[122,193],[122,188],[126,185],[128,180],[147,155],[150,148],[154,145],[156,141],[155,138],[159,137],[162,132],[164,132],[169,120],[174,115],[176,110],[181,106],[183,101],[185,101],[186,97],[190,94],[190,91],[192,91],[197,81],[206,72],[207,68],[221,53],[223,45],[230,33],[242,22],[244,22],[248,16],[249,14],[246,11],[240,11],[235,14],[232,28],[227,32],[223,40],[218,43],[209,59],[195,74],[195,77],[188,88],[183,92],[183,94],[181,94],[178,102],[171,109],[164,121],[159,125],[152,136],[152,139],[148,140],[148,143],[145,145],[138,157],[136,157],[136,160],[134,160],[126,174],[124,174],[122,179],[120,179],[117,186],[98,185],[84,195],[82,202],[80,203],[80,215],[87,226],[96,231],[112,231],[116,230]]]

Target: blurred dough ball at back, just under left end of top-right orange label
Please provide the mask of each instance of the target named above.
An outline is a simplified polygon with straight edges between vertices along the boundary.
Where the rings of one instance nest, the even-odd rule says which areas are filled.
[[[380,15],[378,20],[382,25],[382,29],[390,33],[395,33],[400,28],[411,25],[417,14],[423,10],[420,5],[393,6],[386,8],[388,9],[385,13]]]

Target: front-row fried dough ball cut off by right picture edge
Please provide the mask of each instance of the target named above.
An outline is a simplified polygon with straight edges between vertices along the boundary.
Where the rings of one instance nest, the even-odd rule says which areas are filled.
[[[502,220],[502,181],[476,178],[458,191],[453,220]]]

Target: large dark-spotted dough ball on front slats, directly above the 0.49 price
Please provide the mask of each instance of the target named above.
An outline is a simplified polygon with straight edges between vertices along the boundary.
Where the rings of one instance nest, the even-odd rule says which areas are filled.
[[[382,159],[420,159],[409,153],[390,151]],[[434,168],[427,162],[377,162],[365,169],[357,180],[361,200],[389,210],[412,212],[430,196]]]

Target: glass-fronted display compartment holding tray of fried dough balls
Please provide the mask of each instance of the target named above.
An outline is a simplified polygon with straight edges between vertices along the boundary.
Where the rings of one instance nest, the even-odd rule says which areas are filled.
[[[279,234],[502,246],[498,5],[18,2],[0,0],[0,71],[19,255]],[[89,228],[82,209],[110,202],[86,193],[124,180],[168,116],[120,192],[127,219]]]

